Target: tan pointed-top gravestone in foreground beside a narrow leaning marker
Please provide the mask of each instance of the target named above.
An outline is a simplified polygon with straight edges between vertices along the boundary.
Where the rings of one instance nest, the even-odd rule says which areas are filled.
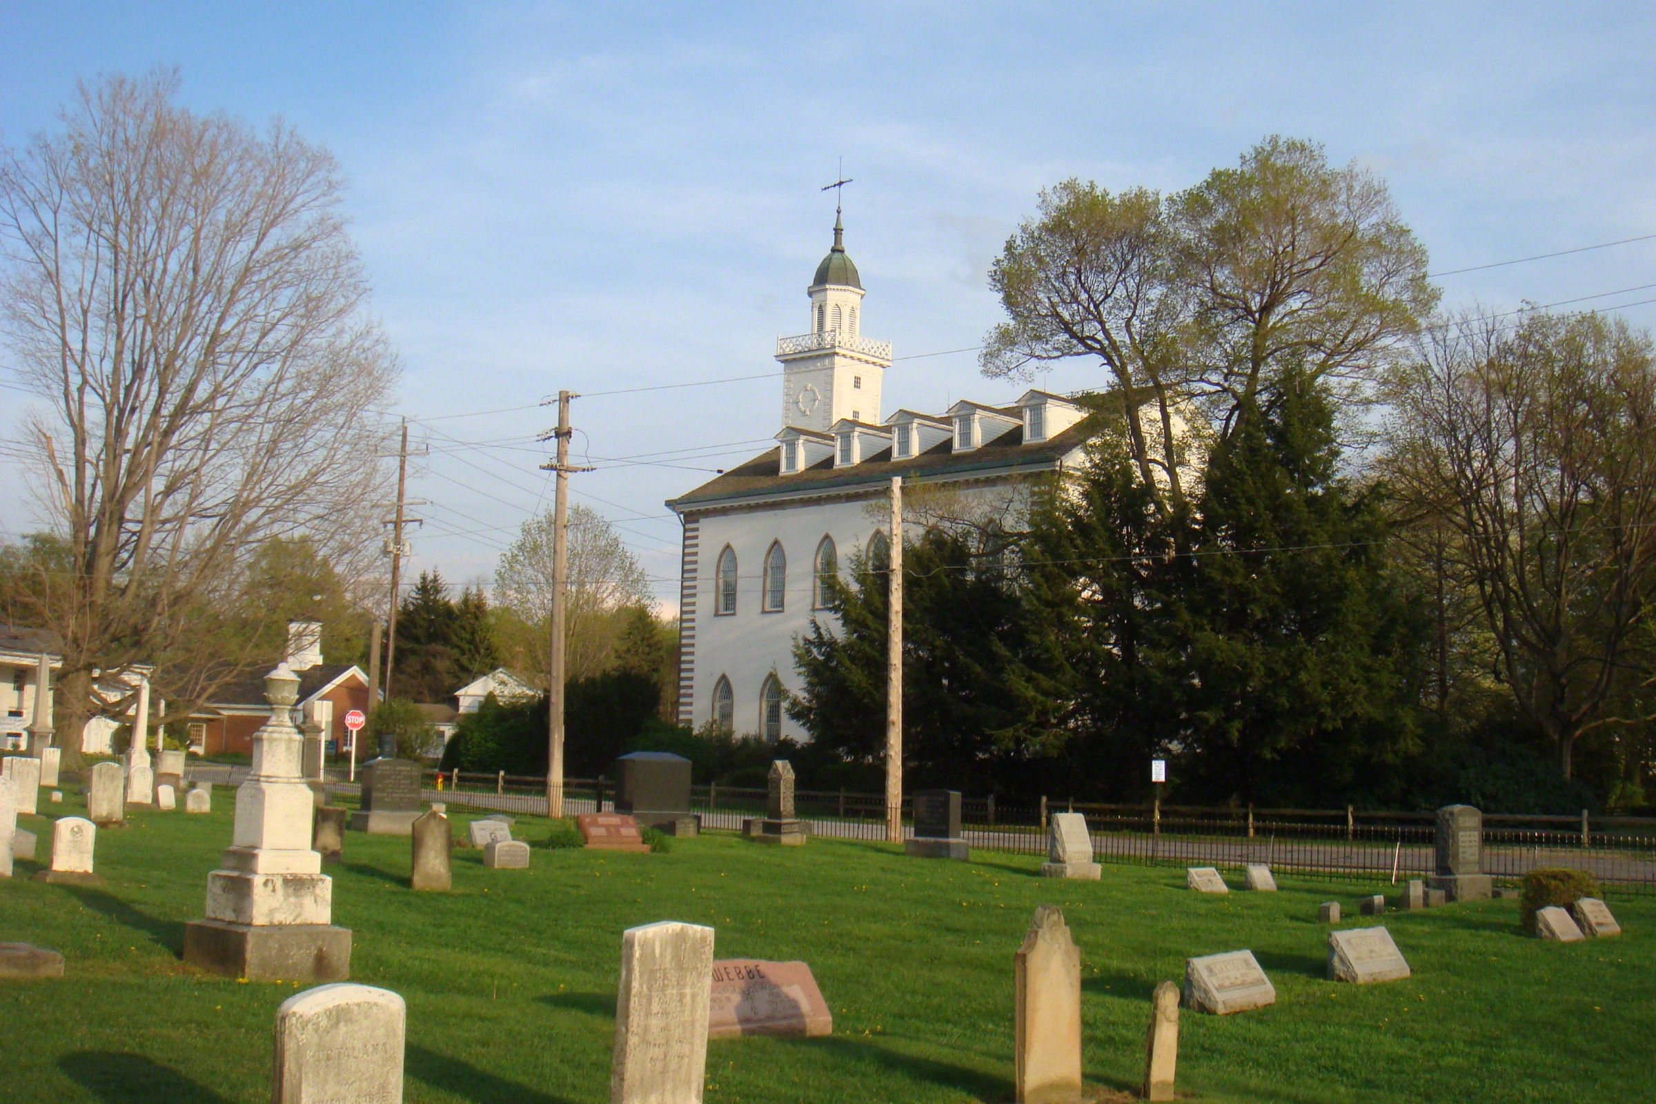
[[[1076,1104],[1081,1099],[1081,952],[1063,912],[1035,909],[1013,958],[1017,990],[1018,1104]]]

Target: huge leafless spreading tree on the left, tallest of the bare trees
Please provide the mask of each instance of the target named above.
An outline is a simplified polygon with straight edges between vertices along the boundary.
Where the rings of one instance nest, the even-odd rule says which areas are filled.
[[[361,540],[396,379],[333,157],[176,91],[83,84],[0,154],[0,328],[46,404],[33,485],[70,573],[31,612],[65,641],[71,763],[94,669],[187,647],[263,540]]]

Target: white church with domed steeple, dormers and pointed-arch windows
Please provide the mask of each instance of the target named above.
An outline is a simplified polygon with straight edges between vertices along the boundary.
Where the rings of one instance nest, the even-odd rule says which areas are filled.
[[[881,412],[891,344],[863,336],[863,283],[835,220],[806,291],[810,331],[780,338],[778,445],[667,503],[684,526],[679,723],[806,738],[783,710],[793,642],[823,617],[821,579],[884,540],[891,478],[1015,503],[1032,475],[1083,455],[1083,410],[1030,391],[1015,404]],[[911,518],[906,516],[904,528]]]

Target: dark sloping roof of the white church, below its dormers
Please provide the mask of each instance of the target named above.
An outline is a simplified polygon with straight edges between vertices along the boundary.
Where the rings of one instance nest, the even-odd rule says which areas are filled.
[[[1091,437],[1091,419],[1083,419],[1047,440],[1023,444],[1023,427],[1012,425],[994,440],[970,452],[954,452],[954,440],[942,440],[917,457],[893,460],[884,449],[861,463],[835,467],[833,460],[820,460],[803,472],[778,475],[780,449],[770,449],[752,460],[730,468],[692,492],[667,502],[677,511],[710,506],[722,502],[767,498],[772,495],[798,495],[811,492],[854,490],[859,487],[884,487],[893,475],[904,478],[965,478],[972,475],[994,477],[1045,472]]]

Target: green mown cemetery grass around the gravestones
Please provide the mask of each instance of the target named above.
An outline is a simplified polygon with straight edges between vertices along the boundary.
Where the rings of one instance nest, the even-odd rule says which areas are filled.
[[[81,814],[78,794],[41,803]],[[0,942],[63,952],[60,980],[0,983],[0,1097],[22,1104],[262,1104],[272,1023],[298,986],[238,983],[179,960],[207,871],[229,844],[214,813],[134,813],[99,831],[103,887],[0,881]],[[467,814],[454,818],[464,834]],[[40,836],[50,821],[22,818]],[[548,834],[520,818],[518,838]],[[1184,958],[1252,948],[1277,1005],[1181,1015],[1179,1089],[1201,1101],[1363,1104],[1656,1099],[1656,900],[1610,897],[1621,938],[1542,943],[1515,900],[1388,914],[1414,977],[1323,980],[1317,904],[1348,920],[1384,886],[1280,877],[1282,892],[1184,889],[1184,871],[1105,864],[1101,882],[1037,877],[1038,859],[907,859],[884,844],[768,847],[712,834],[669,854],[535,847],[530,871],[455,851],[454,892],[406,887],[406,838],[349,833],[330,862],[353,982],[407,1000],[411,1104],[603,1104],[621,930],[717,929],[720,958],[803,958],[835,1033],[709,1044],[709,1104],[1000,1104],[1012,1099],[1012,953],[1038,904],[1081,948],[1085,1073],[1105,1099],[1143,1076],[1149,996]],[[1394,890],[1393,890],[1394,892]]]

